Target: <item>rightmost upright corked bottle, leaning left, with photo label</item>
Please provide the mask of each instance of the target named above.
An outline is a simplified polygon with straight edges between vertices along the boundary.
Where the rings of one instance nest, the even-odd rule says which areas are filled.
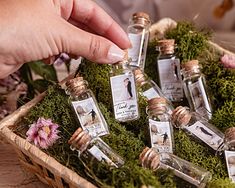
[[[184,92],[190,109],[211,119],[211,100],[207,92],[205,76],[200,71],[198,60],[183,64],[182,69]]]

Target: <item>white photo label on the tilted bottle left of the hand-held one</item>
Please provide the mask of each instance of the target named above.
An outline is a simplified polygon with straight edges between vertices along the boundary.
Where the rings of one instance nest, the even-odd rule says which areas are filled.
[[[92,136],[102,136],[109,133],[107,123],[93,98],[72,101],[72,106],[83,130],[87,129]]]

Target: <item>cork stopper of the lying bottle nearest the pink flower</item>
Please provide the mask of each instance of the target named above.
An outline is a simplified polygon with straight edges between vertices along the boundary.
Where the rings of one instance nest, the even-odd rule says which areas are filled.
[[[82,128],[78,128],[68,141],[71,145],[70,148],[72,150],[78,150],[80,153],[86,150],[90,142],[91,136],[87,131],[83,131]]]

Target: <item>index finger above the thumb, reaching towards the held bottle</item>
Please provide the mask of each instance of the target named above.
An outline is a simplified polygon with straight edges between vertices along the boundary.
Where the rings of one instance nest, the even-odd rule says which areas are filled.
[[[92,28],[122,49],[131,46],[122,28],[98,5],[91,0],[74,0],[71,18]]]

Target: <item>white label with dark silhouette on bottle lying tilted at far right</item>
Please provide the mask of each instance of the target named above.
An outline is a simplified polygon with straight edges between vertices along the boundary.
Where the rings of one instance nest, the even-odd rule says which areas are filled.
[[[223,143],[222,137],[220,137],[218,134],[216,134],[214,131],[212,131],[199,121],[185,128],[215,151]]]

